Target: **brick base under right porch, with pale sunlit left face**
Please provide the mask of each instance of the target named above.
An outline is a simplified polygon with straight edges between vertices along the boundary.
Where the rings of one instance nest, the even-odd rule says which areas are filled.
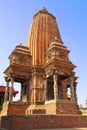
[[[81,115],[79,106],[74,101],[68,100],[51,100],[45,103],[46,114],[66,114]]]

